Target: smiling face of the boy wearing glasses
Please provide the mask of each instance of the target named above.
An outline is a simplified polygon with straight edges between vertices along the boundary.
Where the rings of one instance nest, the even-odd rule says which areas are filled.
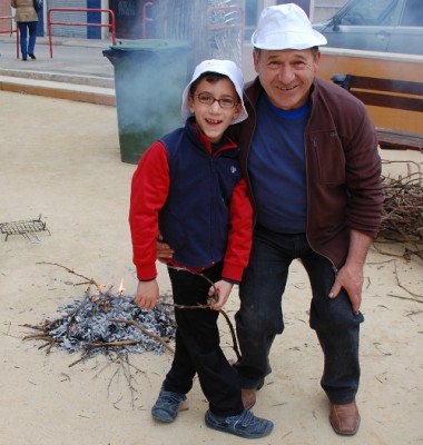
[[[215,100],[212,105],[201,103],[198,95],[209,96]],[[223,108],[218,100],[230,99],[235,102],[233,108]],[[222,78],[213,83],[206,78],[201,79],[194,95],[188,97],[189,110],[195,115],[196,121],[200,130],[210,139],[212,142],[218,142],[225,130],[228,128],[233,119],[235,119],[240,110],[240,102],[236,93],[233,82],[228,78]]]

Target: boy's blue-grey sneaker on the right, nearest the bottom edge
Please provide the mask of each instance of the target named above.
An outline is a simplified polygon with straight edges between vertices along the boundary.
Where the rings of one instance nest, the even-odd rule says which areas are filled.
[[[244,411],[238,416],[230,417],[215,416],[208,411],[205,421],[209,428],[244,438],[260,438],[267,436],[273,429],[273,422],[256,417],[250,411]]]

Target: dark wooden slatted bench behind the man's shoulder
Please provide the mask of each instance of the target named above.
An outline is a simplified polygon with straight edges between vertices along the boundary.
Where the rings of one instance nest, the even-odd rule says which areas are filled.
[[[334,75],[332,81],[348,90],[365,105],[423,113],[423,82],[355,75]],[[423,152],[423,134],[411,134],[378,127],[376,131],[381,148],[412,149]]]

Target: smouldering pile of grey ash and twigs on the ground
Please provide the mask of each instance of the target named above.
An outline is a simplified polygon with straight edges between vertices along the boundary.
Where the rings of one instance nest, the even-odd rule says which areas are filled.
[[[42,334],[24,339],[42,339],[49,349],[57,346],[90,356],[105,350],[161,354],[176,330],[171,307],[145,310],[134,303],[134,297],[111,293],[89,295],[87,291],[82,300],[58,310],[62,314],[58,319],[46,320],[41,326],[26,325]]]

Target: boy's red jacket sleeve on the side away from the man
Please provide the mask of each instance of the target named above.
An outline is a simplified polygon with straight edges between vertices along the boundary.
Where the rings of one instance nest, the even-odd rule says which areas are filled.
[[[140,280],[154,279],[158,212],[169,190],[169,164],[161,142],[156,141],[142,155],[132,176],[129,227],[132,240],[132,260]]]

